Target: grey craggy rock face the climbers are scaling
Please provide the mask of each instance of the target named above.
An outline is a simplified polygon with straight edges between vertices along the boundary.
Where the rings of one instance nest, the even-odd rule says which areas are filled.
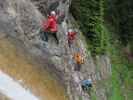
[[[91,96],[82,91],[80,81],[92,78],[97,84],[108,79],[111,74],[110,60],[107,56],[102,56],[96,57],[94,61],[88,54],[85,39],[73,25],[75,21],[69,14],[70,4],[71,0],[0,0],[0,35],[22,41],[32,55],[58,76],[65,85],[70,100],[90,100]],[[49,37],[48,44],[44,46],[39,30],[44,17],[52,10],[62,15],[58,20],[57,35],[60,43],[56,45],[55,40]],[[72,48],[67,44],[68,28],[74,28],[78,33]],[[79,50],[85,56],[85,64],[78,72],[74,71],[75,62],[72,55]],[[105,89],[97,85],[95,87],[97,100],[107,100]]]

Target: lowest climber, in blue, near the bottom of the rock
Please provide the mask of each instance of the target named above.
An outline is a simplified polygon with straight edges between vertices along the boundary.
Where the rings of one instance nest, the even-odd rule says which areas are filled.
[[[87,80],[81,81],[81,87],[84,91],[90,90],[92,87],[92,80],[87,79]]]

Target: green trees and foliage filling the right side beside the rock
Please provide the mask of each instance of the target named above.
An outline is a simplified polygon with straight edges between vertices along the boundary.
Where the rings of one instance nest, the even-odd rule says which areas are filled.
[[[73,0],[70,8],[86,36],[88,49],[93,54],[109,52],[111,55],[112,80],[107,83],[109,100],[133,98],[133,92],[130,90],[133,88],[133,64],[129,63],[121,52],[121,44],[130,44],[133,51],[132,2],[131,0]],[[95,92],[92,92],[91,97],[96,100]]]

